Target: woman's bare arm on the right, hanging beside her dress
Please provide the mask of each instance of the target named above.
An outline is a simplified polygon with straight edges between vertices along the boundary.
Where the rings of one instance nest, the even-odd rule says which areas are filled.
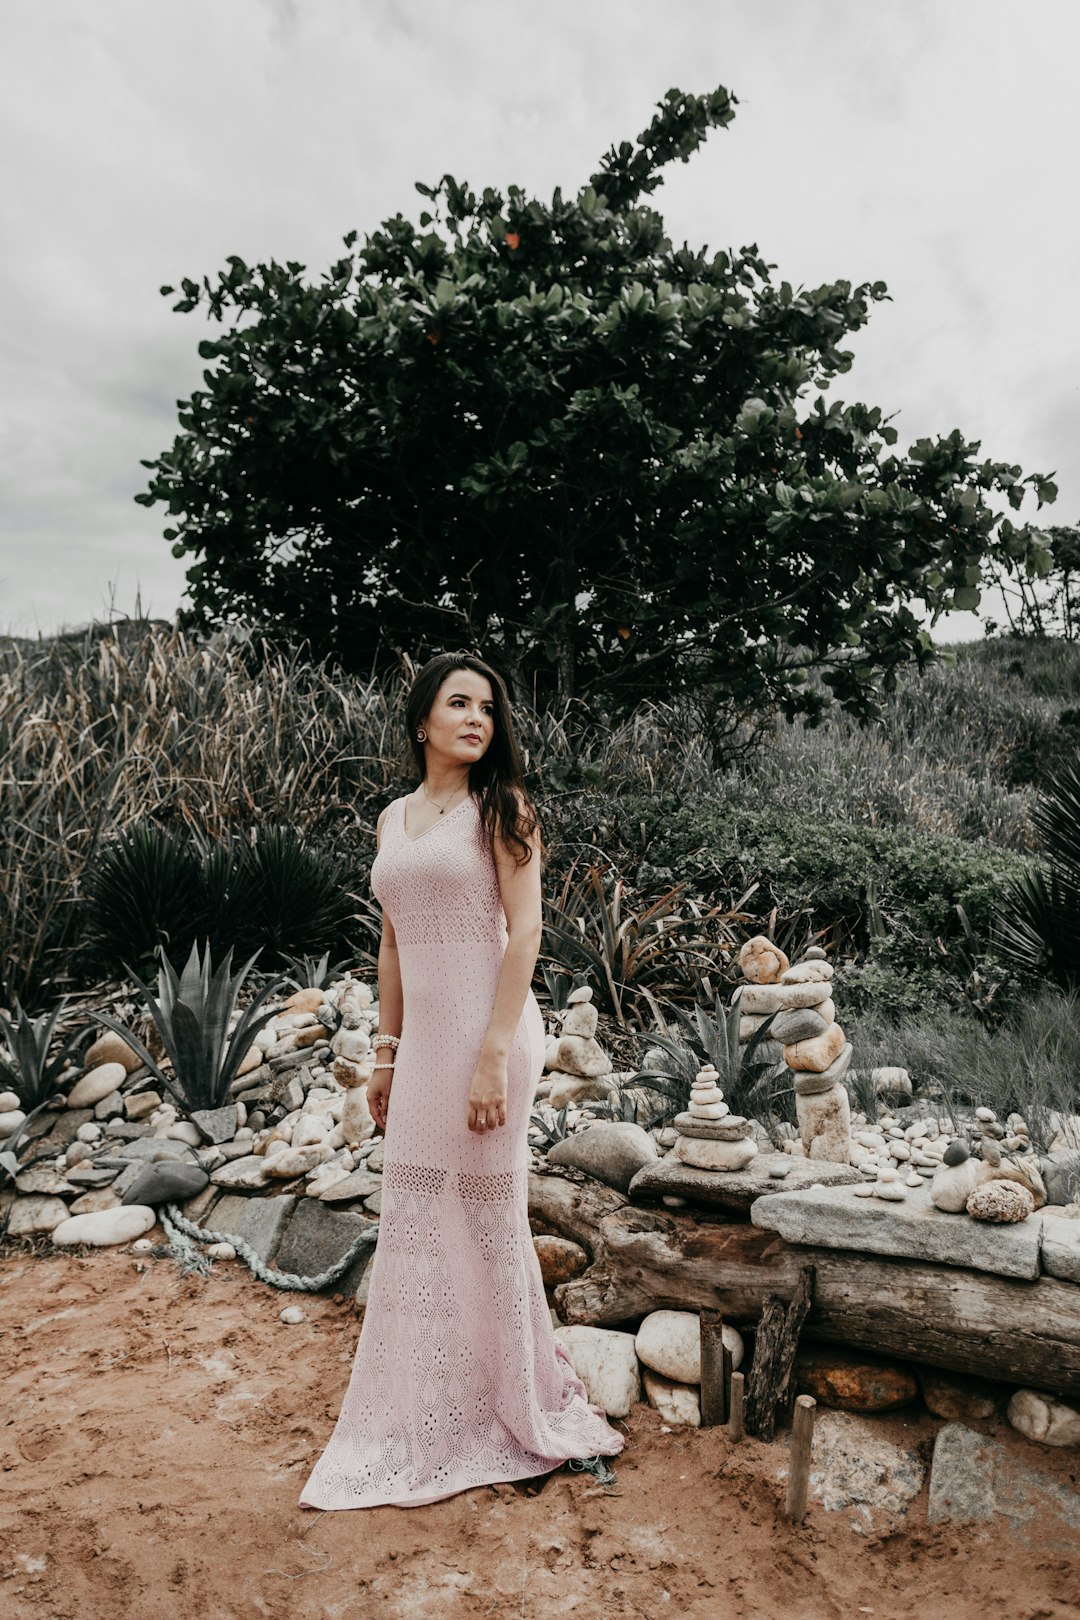
[[[487,1021],[484,1045],[473,1076],[468,1103],[470,1131],[507,1123],[507,1061],[542,936],[539,831],[529,839],[533,850],[518,865],[500,838],[495,838],[495,873],[507,917],[507,949],[499,969],[499,985]]]

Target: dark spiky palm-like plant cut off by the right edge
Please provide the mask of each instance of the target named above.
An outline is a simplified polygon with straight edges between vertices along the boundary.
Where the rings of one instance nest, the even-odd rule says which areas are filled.
[[[1048,773],[1031,821],[1046,868],[1007,885],[997,944],[1017,967],[1080,988],[1080,755]]]

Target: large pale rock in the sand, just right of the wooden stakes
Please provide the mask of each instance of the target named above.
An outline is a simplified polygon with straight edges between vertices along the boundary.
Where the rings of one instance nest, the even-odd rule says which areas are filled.
[[[876,1424],[839,1411],[816,1414],[810,1495],[827,1513],[853,1510],[860,1529],[886,1529],[905,1518],[925,1477],[918,1453],[882,1439]]]

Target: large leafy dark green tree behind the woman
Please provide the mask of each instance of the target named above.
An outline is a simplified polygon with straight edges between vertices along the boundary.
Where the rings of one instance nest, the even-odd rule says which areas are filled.
[[[1048,478],[959,431],[891,454],[879,408],[808,397],[884,282],[776,285],[756,245],[669,241],[644,199],[733,117],[669,91],[575,198],[418,185],[418,224],[350,232],[317,285],[235,256],[185,279],[175,308],[228,330],[136,501],[167,504],[193,611],[353,667],[470,645],[518,695],[813,718],[811,667],[873,713],[934,656],[918,601],[1038,569],[991,497]]]

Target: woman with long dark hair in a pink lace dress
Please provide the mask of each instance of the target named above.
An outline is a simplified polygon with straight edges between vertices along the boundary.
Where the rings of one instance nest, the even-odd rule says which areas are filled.
[[[544,1021],[541,841],[502,679],[440,653],[406,708],[419,787],[379,816],[385,1131],[368,1311],[300,1502],[437,1502],[622,1450],[555,1343],[526,1213]]]

